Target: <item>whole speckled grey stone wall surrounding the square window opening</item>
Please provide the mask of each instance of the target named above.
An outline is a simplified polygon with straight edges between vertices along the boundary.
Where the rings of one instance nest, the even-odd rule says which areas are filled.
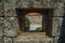
[[[0,43],[57,43],[58,39],[52,38],[29,38],[25,34],[23,39],[17,39],[18,23],[16,8],[43,8],[54,9],[52,37],[58,37],[64,14],[64,1],[62,0],[0,0]],[[32,33],[34,34],[34,33]],[[22,35],[21,35],[22,37]],[[39,40],[38,40],[39,39]],[[20,41],[18,41],[20,40]]]

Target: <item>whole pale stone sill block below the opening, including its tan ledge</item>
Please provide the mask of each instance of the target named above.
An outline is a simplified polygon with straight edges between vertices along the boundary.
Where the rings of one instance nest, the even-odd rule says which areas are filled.
[[[46,32],[20,32],[14,38],[14,43],[52,43],[53,38],[46,35]]]

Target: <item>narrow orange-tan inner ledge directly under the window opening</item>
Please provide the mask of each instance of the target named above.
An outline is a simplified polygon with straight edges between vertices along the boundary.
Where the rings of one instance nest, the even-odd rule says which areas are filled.
[[[18,35],[25,37],[46,37],[46,32],[20,32]]]

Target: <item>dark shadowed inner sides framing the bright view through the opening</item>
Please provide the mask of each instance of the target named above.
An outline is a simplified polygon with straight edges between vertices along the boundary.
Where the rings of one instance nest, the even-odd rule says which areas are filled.
[[[52,16],[53,16],[53,9],[16,9],[17,18],[20,23],[20,29],[25,32],[48,32],[48,34],[52,30]],[[42,30],[29,30],[25,28],[25,16],[28,13],[39,13],[42,15]],[[31,16],[31,15],[29,15]],[[38,15],[32,15],[38,16]],[[36,18],[37,19],[37,18]]]

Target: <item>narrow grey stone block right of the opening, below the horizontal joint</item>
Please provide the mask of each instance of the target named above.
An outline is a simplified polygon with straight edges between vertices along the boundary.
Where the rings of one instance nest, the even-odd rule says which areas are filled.
[[[52,26],[52,35],[56,37],[61,33],[63,17],[53,17],[53,26]]]

